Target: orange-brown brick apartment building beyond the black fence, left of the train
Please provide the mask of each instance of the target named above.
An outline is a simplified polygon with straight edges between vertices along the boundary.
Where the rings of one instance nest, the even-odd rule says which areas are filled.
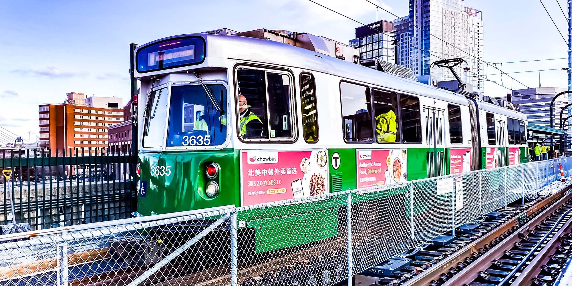
[[[67,93],[63,104],[39,105],[39,146],[51,149],[51,156],[88,153],[88,148],[108,147],[108,128],[123,122],[122,98],[88,97]],[[83,156],[83,155],[80,155]]]

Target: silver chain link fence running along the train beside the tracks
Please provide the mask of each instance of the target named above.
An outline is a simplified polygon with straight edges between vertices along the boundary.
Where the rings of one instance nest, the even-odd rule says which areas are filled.
[[[559,179],[559,164],[570,175],[562,158],[0,236],[0,286],[334,285],[523,200]]]

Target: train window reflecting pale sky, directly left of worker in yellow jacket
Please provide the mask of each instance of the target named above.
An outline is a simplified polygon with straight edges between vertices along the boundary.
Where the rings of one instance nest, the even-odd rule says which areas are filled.
[[[340,82],[340,97],[345,142],[373,142],[370,88]]]

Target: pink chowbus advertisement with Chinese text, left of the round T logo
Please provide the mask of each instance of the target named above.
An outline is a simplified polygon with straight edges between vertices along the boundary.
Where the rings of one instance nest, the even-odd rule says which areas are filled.
[[[242,152],[242,205],[328,193],[328,152]]]

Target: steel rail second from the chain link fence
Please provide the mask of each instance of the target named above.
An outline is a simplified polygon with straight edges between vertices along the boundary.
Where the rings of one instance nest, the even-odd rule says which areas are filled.
[[[567,186],[565,189],[561,190],[561,192],[570,189],[571,187],[572,185]],[[571,197],[572,192],[565,194],[565,196],[560,198],[554,204],[550,205],[549,208],[545,209],[540,215],[535,216],[528,223],[519,228],[518,232],[513,232],[509,237],[496,244],[492,249],[480,256],[478,260],[467,265],[466,268],[443,283],[442,286],[462,285],[474,281],[478,277],[479,271],[485,271],[488,267],[490,267],[492,260],[498,259],[505,253],[506,250],[510,250],[515,243],[521,241],[521,236],[525,235],[525,233],[527,233],[529,230],[533,230],[538,224],[541,224],[542,220],[550,216],[551,213],[557,210]],[[425,282],[426,284],[424,285],[430,283],[427,280],[425,280]]]

